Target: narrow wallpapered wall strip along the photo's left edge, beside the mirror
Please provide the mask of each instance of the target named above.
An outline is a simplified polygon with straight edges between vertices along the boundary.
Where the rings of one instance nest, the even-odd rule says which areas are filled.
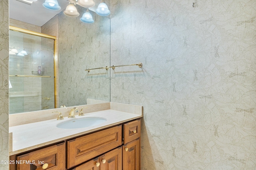
[[[0,1],[0,160],[9,160],[8,123],[8,56],[9,20],[8,0]],[[0,170],[8,170],[8,164],[0,164]]]

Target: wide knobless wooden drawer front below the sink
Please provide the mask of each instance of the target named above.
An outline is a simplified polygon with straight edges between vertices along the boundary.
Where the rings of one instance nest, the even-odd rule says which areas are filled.
[[[122,145],[122,125],[67,141],[67,168]]]

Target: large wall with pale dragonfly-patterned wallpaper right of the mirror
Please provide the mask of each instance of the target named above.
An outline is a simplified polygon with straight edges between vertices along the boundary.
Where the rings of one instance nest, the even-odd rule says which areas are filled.
[[[194,3],[194,7],[193,4]],[[144,107],[142,170],[255,169],[256,1],[111,0],[111,101]]]

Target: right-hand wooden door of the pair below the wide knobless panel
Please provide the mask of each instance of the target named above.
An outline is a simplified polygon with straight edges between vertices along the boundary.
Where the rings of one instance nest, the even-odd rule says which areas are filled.
[[[100,156],[100,170],[122,170],[122,147]]]

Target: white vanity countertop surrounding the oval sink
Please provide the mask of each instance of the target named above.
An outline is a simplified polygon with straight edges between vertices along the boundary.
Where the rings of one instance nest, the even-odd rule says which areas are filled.
[[[70,121],[70,119],[81,119],[85,117],[102,117],[106,119],[106,121],[99,125],[78,129],[60,129],[56,127],[58,123]],[[142,117],[142,115],[107,109],[86,113],[84,116],[76,115],[75,118],[64,117],[64,120],[50,119],[46,121],[12,126],[9,127],[9,133],[12,133],[12,151],[9,152],[9,155],[50,145],[52,143],[60,142],[79,135],[84,135],[86,133],[124,123],[139,117]]]

